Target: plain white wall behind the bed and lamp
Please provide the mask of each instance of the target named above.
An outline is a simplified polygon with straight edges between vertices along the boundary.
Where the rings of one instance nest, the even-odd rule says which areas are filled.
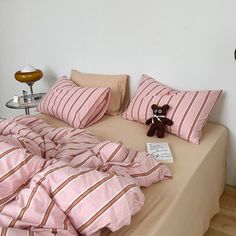
[[[44,71],[47,91],[71,68],[128,73],[134,93],[147,73],[177,89],[224,89],[211,119],[229,128],[227,183],[236,185],[235,0],[0,0],[0,116],[27,89],[25,64]]]

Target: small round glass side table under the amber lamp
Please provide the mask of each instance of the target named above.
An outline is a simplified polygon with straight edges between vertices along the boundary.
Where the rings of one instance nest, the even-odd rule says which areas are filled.
[[[18,102],[13,102],[13,99],[9,100],[6,103],[6,106],[8,108],[12,109],[25,109],[25,114],[30,115],[30,108],[35,108],[38,106],[39,102],[42,100],[42,98],[46,95],[46,93],[35,93],[34,94],[34,101],[28,101],[24,102],[24,97],[20,96],[18,99]],[[30,98],[31,95],[27,96]]]

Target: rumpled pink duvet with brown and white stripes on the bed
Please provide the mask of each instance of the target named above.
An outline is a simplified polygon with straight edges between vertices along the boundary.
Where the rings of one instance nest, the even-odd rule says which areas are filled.
[[[130,223],[169,169],[122,142],[31,116],[0,120],[1,235],[99,235]]]

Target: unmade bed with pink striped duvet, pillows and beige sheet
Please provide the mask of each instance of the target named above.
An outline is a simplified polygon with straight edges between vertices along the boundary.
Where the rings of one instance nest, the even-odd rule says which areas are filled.
[[[25,160],[35,165],[26,163],[30,176],[26,169],[26,182],[20,185],[23,175],[2,181],[2,235],[24,235],[24,230],[98,235],[102,229],[103,236],[203,236],[219,212],[225,182],[227,129],[206,123],[222,91],[177,91],[142,75],[129,103],[127,81],[127,75],[72,71],[71,80],[62,77],[49,90],[37,118],[0,122],[2,157],[20,147],[18,158],[1,165],[8,172],[0,183],[17,176]],[[167,113],[162,113],[164,106]],[[161,140],[169,143],[174,157],[168,167],[145,152],[147,142],[157,141],[147,136],[145,122],[151,119],[152,126],[166,118],[173,121]],[[11,160],[19,162],[17,170]],[[8,193],[11,185],[14,192]],[[140,186],[146,186],[144,194]],[[19,197],[13,200],[18,189]],[[21,201],[24,198],[27,203]]]

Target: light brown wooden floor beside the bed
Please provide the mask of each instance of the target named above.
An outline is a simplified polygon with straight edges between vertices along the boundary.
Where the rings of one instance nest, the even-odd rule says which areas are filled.
[[[236,236],[236,187],[225,186],[220,208],[220,213],[213,217],[204,236]]]

